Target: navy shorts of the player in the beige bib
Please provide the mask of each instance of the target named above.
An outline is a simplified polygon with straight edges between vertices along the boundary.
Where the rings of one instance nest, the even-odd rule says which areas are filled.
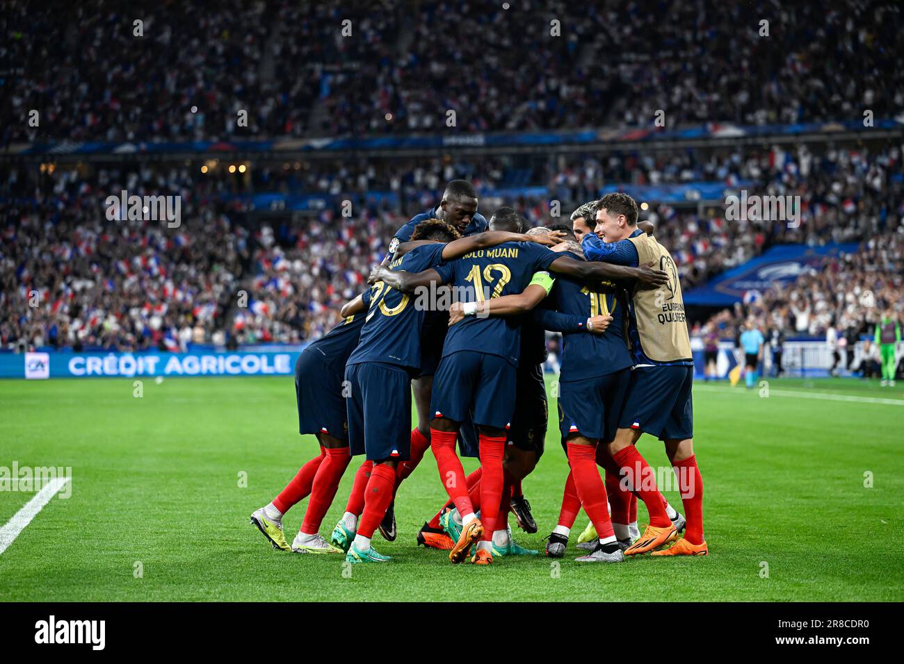
[[[693,367],[637,367],[618,426],[660,440],[693,437]]]

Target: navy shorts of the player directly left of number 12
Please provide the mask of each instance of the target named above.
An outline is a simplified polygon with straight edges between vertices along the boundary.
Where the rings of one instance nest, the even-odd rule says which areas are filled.
[[[345,367],[348,381],[348,444],[370,461],[411,454],[411,375],[392,364],[362,362]]]

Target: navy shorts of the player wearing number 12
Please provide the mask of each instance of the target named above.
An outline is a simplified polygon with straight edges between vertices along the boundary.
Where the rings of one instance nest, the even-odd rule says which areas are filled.
[[[457,351],[439,362],[430,408],[434,417],[507,429],[512,423],[517,370],[498,355]]]

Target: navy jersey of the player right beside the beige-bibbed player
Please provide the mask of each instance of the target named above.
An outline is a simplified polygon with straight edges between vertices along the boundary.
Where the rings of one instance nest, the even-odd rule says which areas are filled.
[[[579,257],[565,252],[567,256]],[[609,282],[585,283],[556,276],[550,298],[561,313],[584,318],[609,315],[612,323],[602,334],[566,332],[562,335],[560,380],[584,380],[614,373],[631,366],[625,339],[625,298]]]

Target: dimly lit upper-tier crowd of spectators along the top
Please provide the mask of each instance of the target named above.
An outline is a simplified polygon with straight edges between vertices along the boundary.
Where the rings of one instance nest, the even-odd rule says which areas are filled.
[[[896,5],[504,5],[12,0],[0,142],[447,131],[450,110],[456,131],[904,110]]]

